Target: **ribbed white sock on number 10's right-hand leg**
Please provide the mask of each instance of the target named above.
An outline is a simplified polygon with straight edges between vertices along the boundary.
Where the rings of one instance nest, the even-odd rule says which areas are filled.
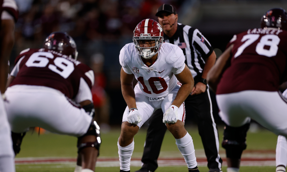
[[[184,157],[184,160],[187,164],[187,167],[192,169],[197,166],[195,150],[192,142],[191,136],[186,133],[183,138],[175,139],[175,143],[177,144],[177,148]]]

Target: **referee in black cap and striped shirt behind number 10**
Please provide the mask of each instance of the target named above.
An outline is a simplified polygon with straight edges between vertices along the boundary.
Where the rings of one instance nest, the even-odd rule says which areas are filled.
[[[186,115],[195,115],[199,135],[208,160],[209,172],[220,172],[222,159],[218,154],[218,131],[212,115],[212,104],[206,75],[216,60],[215,52],[199,30],[177,23],[178,15],[172,5],[161,5],[156,13],[158,22],[164,31],[164,42],[178,45],[185,55],[194,84],[191,94],[185,100]],[[158,167],[157,159],[166,126],[162,123],[162,110],[157,110],[150,118],[144,154],[143,166],[136,172],[153,172]]]

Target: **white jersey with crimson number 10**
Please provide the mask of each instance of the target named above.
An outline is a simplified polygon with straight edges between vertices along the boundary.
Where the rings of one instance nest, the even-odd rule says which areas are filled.
[[[148,67],[133,43],[126,44],[120,52],[120,64],[127,74],[134,74],[141,91],[148,97],[164,97],[177,87],[177,78],[185,68],[185,57],[179,46],[164,42],[158,58]]]

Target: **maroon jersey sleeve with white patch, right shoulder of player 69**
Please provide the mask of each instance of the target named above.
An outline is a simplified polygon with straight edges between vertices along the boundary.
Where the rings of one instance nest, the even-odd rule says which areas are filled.
[[[90,67],[88,67],[88,65],[83,63],[78,64],[76,68],[78,68],[79,71],[82,73],[82,77],[84,78],[84,80],[87,82],[87,84],[91,89],[95,83],[94,71]]]

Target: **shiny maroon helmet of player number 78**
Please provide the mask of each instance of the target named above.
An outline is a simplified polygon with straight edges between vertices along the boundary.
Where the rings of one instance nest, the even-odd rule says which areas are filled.
[[[261,18],[261,28],[278,28],[287,30],[287,13],[285,9],[273,8]]]

